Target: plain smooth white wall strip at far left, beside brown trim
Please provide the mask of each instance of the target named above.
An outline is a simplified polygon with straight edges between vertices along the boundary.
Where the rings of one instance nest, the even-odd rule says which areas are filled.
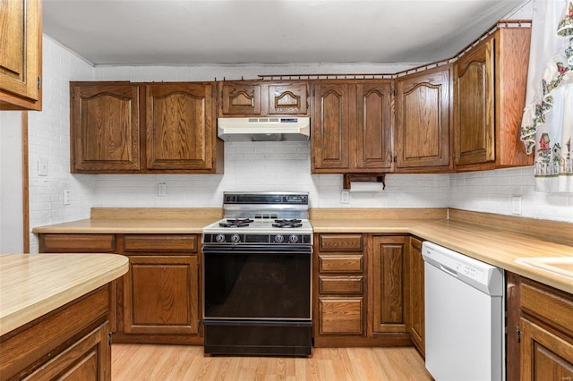
[[[21,112],[0,113],[0,253],[24,250]]]

